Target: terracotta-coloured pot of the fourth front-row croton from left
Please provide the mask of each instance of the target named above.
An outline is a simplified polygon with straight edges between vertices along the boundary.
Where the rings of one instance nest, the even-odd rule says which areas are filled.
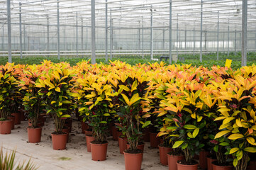
[[[93,161],[106,160],[106,151],[108,149],[108,142],[104,144],[91,143],[91,159]]]

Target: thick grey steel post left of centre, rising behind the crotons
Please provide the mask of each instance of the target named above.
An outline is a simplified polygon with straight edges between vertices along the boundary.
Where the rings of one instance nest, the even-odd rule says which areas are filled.
[[[91,64],[96,64],[95,0],[91,0]]]

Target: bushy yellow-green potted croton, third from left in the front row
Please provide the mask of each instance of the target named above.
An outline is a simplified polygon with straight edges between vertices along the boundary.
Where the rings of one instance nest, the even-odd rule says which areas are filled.
[[[52,67],[43,74],[38,83],[38,94],[45,98],[45,107],[48,114],[52,115],[55,132],[52,132],[52,148],[65,149],[67,132],[63,132],[65,119],[70,118],[72,111],[72,70],[65,63],[52,64]]]

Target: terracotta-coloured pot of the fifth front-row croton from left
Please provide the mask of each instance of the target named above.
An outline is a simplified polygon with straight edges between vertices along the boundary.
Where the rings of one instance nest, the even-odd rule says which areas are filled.
[[[124,152],[124,162],[126,170],[140,170],[143,162],[143,153],[129,154]]]

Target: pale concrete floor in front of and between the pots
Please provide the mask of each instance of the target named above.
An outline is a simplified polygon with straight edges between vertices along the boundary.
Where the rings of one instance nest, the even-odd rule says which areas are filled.
[[[79,121],[72,122],[72,132],[69,133],[67,149],[57,151],[52,149],[50,134],[53,132],[52,120],[46,120],[42,131],[41,142],[28,143],[26,127],[28,121],[21,121],[21,125],[15,125],[10,135],[0,135],[0,145],[4,152],[16,149],[16,162],[31,161],[39,170],[121,170],[125,169],[123,154],[119,153],[118,142],[108,137],[107,159],[103,162],[91,160],[91,153],[87,152],[85,135],[82,134]],[[167,166],[160,164],[158,149],[149,147],[145,142],[143,155],[143,170],[167,170]]]

